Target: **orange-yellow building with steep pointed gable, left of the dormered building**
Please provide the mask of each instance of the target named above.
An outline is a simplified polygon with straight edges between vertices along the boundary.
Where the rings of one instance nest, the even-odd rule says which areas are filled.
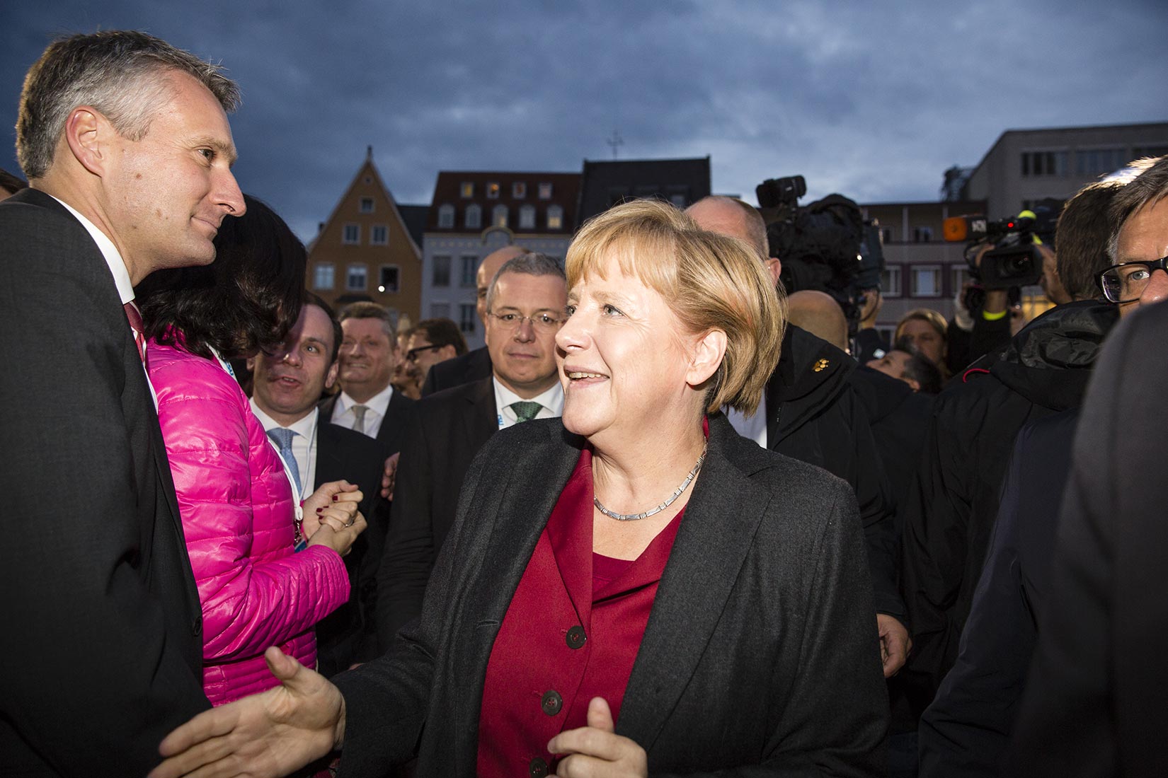
[[[417,322],[422,247],[410,236],[370,146],[348,189],[308,247],[308,288],[335,308],[371,300]]]

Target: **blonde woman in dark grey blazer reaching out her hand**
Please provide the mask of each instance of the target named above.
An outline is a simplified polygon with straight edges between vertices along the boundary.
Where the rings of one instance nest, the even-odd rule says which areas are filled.
[[[342,748],[353,776],[412,757],[426,776],[883,775],[855,497],[718,413],[752,411],[778,360],[758,257],[637,201],[580,230],[566,274],[563,419],[480,451],[420,618],[335,687],[271,651],[283,687],[173,733],[157,778],[227,742],[280,770]]]

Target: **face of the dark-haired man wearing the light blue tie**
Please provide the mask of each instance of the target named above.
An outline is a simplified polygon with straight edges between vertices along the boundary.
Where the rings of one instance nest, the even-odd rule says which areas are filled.
[[[253,360],[256,405],[284,426],[303,419],[336,380],[333,323],[317,306],[300,309],[300,318],[278,353],[260,352]]]

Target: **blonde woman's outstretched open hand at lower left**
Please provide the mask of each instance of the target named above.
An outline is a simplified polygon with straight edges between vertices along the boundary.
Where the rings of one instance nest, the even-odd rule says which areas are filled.
[[[264,654],[280,686],[199,714],[166,736],[148,778],[286,776],[345,740],[340,691],[279,649]]]

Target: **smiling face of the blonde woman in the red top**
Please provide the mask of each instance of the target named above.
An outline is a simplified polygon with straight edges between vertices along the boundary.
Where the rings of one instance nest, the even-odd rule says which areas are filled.
[[[603,278],[586,275],[568,295],[570,316],[556,335],[564,385],[564,427],[602,448],[633,441],[659,426],[701,414],[690,385],[698,336],[666,300],[605,260]]]

